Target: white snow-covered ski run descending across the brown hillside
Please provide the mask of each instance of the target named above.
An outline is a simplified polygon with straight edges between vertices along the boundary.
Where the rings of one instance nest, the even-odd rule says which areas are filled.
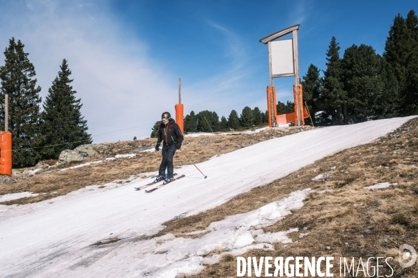
[[[199,163],[208,179],[193,165],[185,165],[176,170],[185,174],[185,179],[150,194],[134,190],[149,183],[140,179],[115,190],[100,191],[91,186],[96,189],[87,187],[36,204],[0,206],[0,277],[142,277],[146,272],[153,277],[176,277],[178,273],[201,271],[203,259],[205,263],[216,262],[219,256],[202,256],[219,245],[219,240],[224,243],[221,248],[231,254],[242,254],[251,247],[269,248],[269,242],[286,241],[286,233],[291,231],[263,234],[259,230],[262,224],[254,230],[244,229],[245,225],[239,224],[240,215],[226,218],[229,224],[222,224],[226,220],[212,223],[207,234],[193,240],[170,235],[146,240],[144,236],[160,231],[167,220],[219,206],[324,156],[371,142],[410,119],[330,126],[260,142]],[[302,199],[291,204],[303,204]],[[258,210],[249,213],[261,215]],[[271,214],[275,210],[267,211]],[[283,213],[286,208],[270,221],[281,219]],[[234,217],[238,222],[231,220]],[[265,217],[254,219],[261,222]],[[222,226],[219,231],[227,236],[217,235],[216,225]],[[238,230],[228,232],[231,227]],[[122,240],[93,245],[114,237]]]

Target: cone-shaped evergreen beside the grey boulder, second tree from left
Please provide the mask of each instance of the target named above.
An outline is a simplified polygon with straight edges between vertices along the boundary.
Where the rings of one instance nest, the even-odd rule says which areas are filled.
[[[64,149],[74,149],[79,145],[91,144],[91,135],[87,133],[87,120],[80,109],[81,99],[76,99],[72,90],[67,60],[63,59],[58,76],[52,81],[43,105],[42,145],[54,145],[42,148],[42,158],[56,159]],[[65,145],[63,145],[65,144]]]

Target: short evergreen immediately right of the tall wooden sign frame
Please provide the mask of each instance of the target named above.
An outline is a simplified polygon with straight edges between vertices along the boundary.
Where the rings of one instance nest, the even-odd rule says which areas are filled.
[[[303,100],[307,102],[309,113],[315,115],[316,112],[323,110],[321,95],[323,80],[319,75],[318,67],[309,65],[307,75],[302,79]]]

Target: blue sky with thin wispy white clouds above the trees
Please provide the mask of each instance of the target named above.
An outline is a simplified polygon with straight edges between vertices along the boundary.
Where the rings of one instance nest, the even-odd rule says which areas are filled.
[[[394,17],[411,9],[417,1],[0,0],[0,48],[22,40],[42,100],[68,59],[94,142],[114,142],[146,138],[174,114],[178,78],[185,113],[265,111],[267,35],[300,24],[302,77],[311,63],[325,70],[333,35],[341,56],[362,43],[382,54]],[[293,99],[293,83],[274,79],[279,101]]]

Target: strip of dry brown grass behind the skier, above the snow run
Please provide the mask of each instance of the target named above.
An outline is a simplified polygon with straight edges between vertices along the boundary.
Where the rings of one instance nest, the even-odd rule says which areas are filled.
[[[254,145],[263,140],[278,138],[307,129],[311,129],[311,127],[299,126],[285,130],[271,129],[251,134],[240,133],[231,135],[186,137],[182,149],[194,163],[201,163],[213,156],[233,152],[236,149]],[[156,141],[156,139],[148,138],[145,140],[112,143],[109,144],[109,152],[97,155],[91,158],[90,161],[97,161],[106,157],[115,156],[116,154],[129,154],[133,149],[150,149],[155,146]],[[86,162],[88,161],[84,161],[83,163]],[[36,174],[35,177],[26,179],[14,179],[13,177],[2,179],[0,195],[21,193],[25,191],[40,193],[40,195],[1,202],[0,204],[10,205],[40,202],[45,199],[68,194],[85,186],[100,186],[103,183],[115,180],[121,180],[121,182],[123,182],[123,180],[140,173],[157,171],[160,162],[160,152],[139,152],[134,158],[106,161],[63,172],[58,172],[58,170],[63,167],[69,167],[70,165],[60,165],[59,169],[53,171],[47,170],[41,174]],[[190,164],[189,160],[180,152],[176,153],[173,162],[176,167]],[[45,163],[52,163],[52,161],[45,161]]]

